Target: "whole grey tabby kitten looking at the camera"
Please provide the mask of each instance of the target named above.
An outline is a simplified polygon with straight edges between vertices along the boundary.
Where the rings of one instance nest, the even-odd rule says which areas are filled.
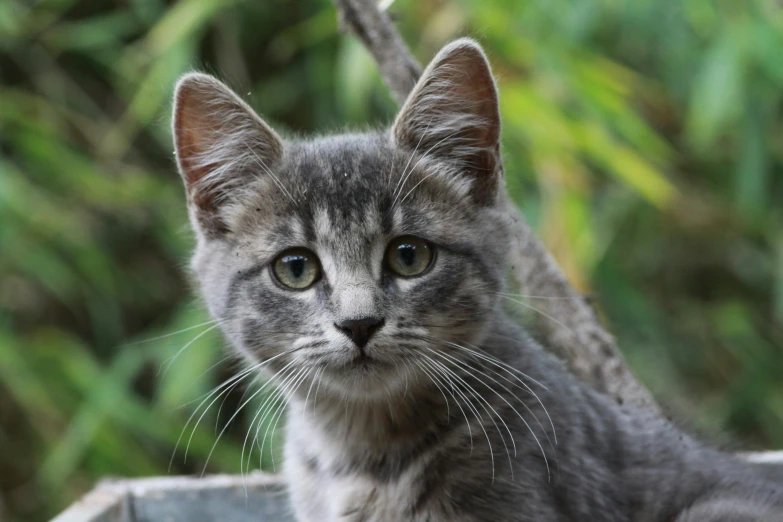
[[[209,311],[289,398],[300,520],[783,520],[780,488],[581,384],[504,311],[513,225],[473,41],[389,131],[286,141],[189,74],[174,136]]]

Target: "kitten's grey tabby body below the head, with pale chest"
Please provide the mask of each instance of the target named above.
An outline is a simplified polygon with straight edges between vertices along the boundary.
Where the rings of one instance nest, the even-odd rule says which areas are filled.
[[[485,375],[479,377],[498,395],[479,379],[471,385],[482,391],[503,418],[516,443],[515,456],[505,426],[495,419],[496,429],[486,421],[494,480],[489,465],[493,457],[480,423],[467,414],[472,426],[471,451],[465,417],[453,402],[449,415],[437,391],[418,412],[414,400],[393,401],[391,407],[399,409],[390,411],[383,403],[346,408],[340,400],[319,397],[313,404],[310,397],[303,414],[303,400],[295,399],[286,435],[286,474],[300,519],[783,520],[779,488],[776,492],[764,484],[750,465],[698,444],[657,416],[625,410],[576,382],[507,318],[500,319],[493,331],[499,335],[490,335],[491,340],[481,348],[513,367],[524,368],[546,386],[544,390],[531,382],[552,418],[554,432],[541,404],[502,377],[513,380],[513,374],[499,367],[494,367],[499,375],[491,373],[489,364],[481,368]],[[467,374],[463,378],[470,381]],[[524,398],[531,411],[521,407],[511,392]],[[513,477],[500,434],[505,435]],[[716,496],[729,499],[719,511],[722,518],[705,518],[696,512],[688,518],[687,508]],[[765,508],[770,499],[776,499],[774,507]],[[742,518],[742,511],[729,509],[753,516]]]

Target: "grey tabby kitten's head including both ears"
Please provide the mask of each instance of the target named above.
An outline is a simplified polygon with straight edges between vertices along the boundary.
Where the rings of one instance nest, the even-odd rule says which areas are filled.
[[[236,349],[371,398],[479,343],[506,270],[499,136],[470,40],[378,133],[287,141],[216,79],[185,76],[174,137],[192,268]]]

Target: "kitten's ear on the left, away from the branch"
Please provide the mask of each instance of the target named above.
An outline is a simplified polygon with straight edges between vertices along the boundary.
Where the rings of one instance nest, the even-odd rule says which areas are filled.
[[[283,155],[275,131],[207,74],[187,74],[177,83],[173,134],[188,204],[199,224],[211,229],[225,228],[219,207]]]

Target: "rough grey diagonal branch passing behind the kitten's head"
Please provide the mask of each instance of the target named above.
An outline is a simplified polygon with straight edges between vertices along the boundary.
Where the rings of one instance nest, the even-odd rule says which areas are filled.
[[[367,47],[384,81],[399,103],[407,98],[421,74],[421,67],[405,42],[374,0],[332,0],[343,25]],[[536,307],[549,316],[542,322],[545,346],[564,360],[572,373],[621,404],[657,409],[650,392],[631,373],[614,337],[601,325],[595,312],[568,283],[544,245],[508,201],[516,223],[512,238],[516,253],[514,276],[522,293],[544,299]],[[565,298],[565,299],[563,299]]]

